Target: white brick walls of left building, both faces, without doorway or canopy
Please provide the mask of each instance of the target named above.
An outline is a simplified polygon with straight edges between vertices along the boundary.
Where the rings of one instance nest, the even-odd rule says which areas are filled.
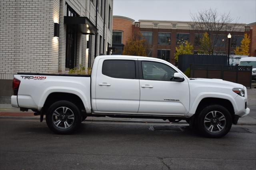
[[[2,97],[12,95],[9,87],[12,86],[13,74],[17,72],[68,72],[65,68],[67,27],[64,24],[67,4],[80,16],[88,17],[96,25],[96,0],[94,3],[90,0],[1,0],[0,103]],[[112,42],[112,28],[108,29],[109,5],[113,10],[113,0],[106,0],[105,24],[100,10],[98,11],[96,55],[99,55],[99,36],[102,36],[102,43],[103,38],[105,43]],[[60,24],[59,38],[54,38],[55,22]],[[95,58],[94,39],[95,36],[92,36],[91,63]],[[86,36],[78,33],[76,65],[82,64],[87,70],[89,56],[86,46]],[[106,46],[103,53],[106,54]]]

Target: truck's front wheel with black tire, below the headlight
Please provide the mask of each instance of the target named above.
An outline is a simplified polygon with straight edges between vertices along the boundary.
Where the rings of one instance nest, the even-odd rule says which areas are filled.
[[[212,119],[210,119],[211,117]],[[225,107],[220,105],[205,107],[197,118],[198,130],[209,138],[225,136],[232,126],[232,116]]]

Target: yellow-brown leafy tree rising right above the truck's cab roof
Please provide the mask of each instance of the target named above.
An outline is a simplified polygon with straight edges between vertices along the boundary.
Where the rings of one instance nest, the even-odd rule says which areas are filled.
[[[134,32],[132,38],[124,45],[123,55],[147,56],[148,44],[140,32]]]

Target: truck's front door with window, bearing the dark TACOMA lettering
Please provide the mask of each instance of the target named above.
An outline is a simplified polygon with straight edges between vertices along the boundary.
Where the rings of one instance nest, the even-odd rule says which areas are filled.
[[[140,107],[138,113],[185,115],[189,110],[188,81],[174,81],[175,69],[158,61],[139,62]]]

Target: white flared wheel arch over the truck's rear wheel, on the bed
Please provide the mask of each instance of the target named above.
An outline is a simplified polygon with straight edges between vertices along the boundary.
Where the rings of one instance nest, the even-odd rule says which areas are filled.
[[[39,103],[38,103],[38,111],[40,111],[42,109],[47,97],[51,93],[71,93],[71,94],[77,95],[82,100],[82,102],[84,104],[84,108],[86,110],[86,113],[91,112],[90,99],[87,99],[87,97],[81,90],[74,89],[74,88],[67,89],[66,87],[48,87],[47,89],[45,89],[43,92],[44,95],[40,98]]]

